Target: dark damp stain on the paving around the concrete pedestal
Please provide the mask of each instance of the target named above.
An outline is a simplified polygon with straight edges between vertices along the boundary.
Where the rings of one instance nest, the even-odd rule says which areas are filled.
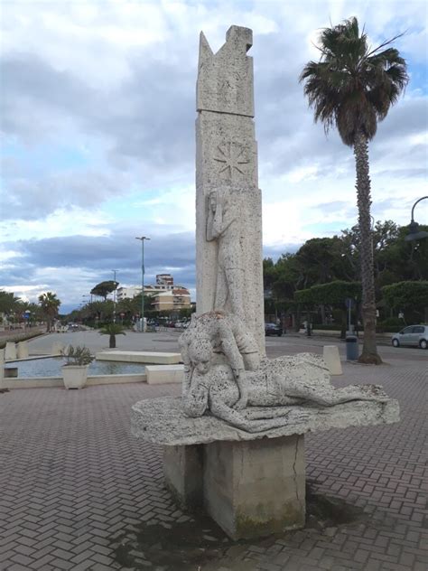
[[[341,525],[361,523],[368,514],[361,508],[306,490],[306,527],[333,537]],[[293,538],[289,531],[268,538],[233,541],[208,516],[191,514],[170,522],[142,522],[126,533],[111,538],[116,562],[122,568],[154,571],[213,571],[220,567],[251,571],[256,562],[247,558],[248,550],[260,552],[278,539]]]

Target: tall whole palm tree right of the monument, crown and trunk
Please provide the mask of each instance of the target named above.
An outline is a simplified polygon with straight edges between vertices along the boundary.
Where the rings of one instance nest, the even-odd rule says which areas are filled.
[[[359,33],[355,17],[325,28],[319,38],[320,61],[307,63],[300,77],[315,122],[321,121],[326,133],[336,126],[342,142],[354,149],[364,323],[359,361],[377,364],[382,360],[376,345],[368,141],[376,135],[377,121],[386,117],[408,82],[405,60],[395,48],[386,48],[398,37],[372,50],[364,30]]]

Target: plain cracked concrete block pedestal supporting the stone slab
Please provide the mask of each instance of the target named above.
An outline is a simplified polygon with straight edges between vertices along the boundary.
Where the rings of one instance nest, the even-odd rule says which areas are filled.
[[[165,446],[165,481],[182,507],[202,506],[233,539],[299,529],[304,436]]]

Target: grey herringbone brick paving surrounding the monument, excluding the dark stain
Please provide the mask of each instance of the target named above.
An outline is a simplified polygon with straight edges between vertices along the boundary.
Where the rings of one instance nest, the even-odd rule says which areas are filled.
[[[377,368],[345,364],[343,377],[334,378],[337,386],[383,384],[400,401],[401,423],[306,437],[314,489],[358,507],[364,519],[240,543],[200,571],[428,568],[427,361],[403,354]],[[151,565],[137,548],[133,566],[123,566],[115,549],[121,538],[135,538],[142,522],[167,529],[186,520],[163,488],[161,448],[129,430],[135,401],[178,392],[129,384],[0,394],[2,571],[174,571]]]

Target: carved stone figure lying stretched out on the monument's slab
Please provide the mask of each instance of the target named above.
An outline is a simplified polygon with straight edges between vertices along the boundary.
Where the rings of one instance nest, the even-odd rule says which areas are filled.
[[[188,417],[209,413],[247,432],[263,432],[287,423],[291,405],[331,407],[352,400],[386,402],[388,397],[376,385],[334,388],[324,361],[313,353],[262,360],[260,367],[246,374],[247,405],[238,412],[236,379],[228,365],[212,363],[209,345],[192,356],[193,371],[182,409]],[[264,407],[263,411],[251,407]],[[300,420],[304,418],[301,413]],[[293,419],[295,422],[295,418]]]

